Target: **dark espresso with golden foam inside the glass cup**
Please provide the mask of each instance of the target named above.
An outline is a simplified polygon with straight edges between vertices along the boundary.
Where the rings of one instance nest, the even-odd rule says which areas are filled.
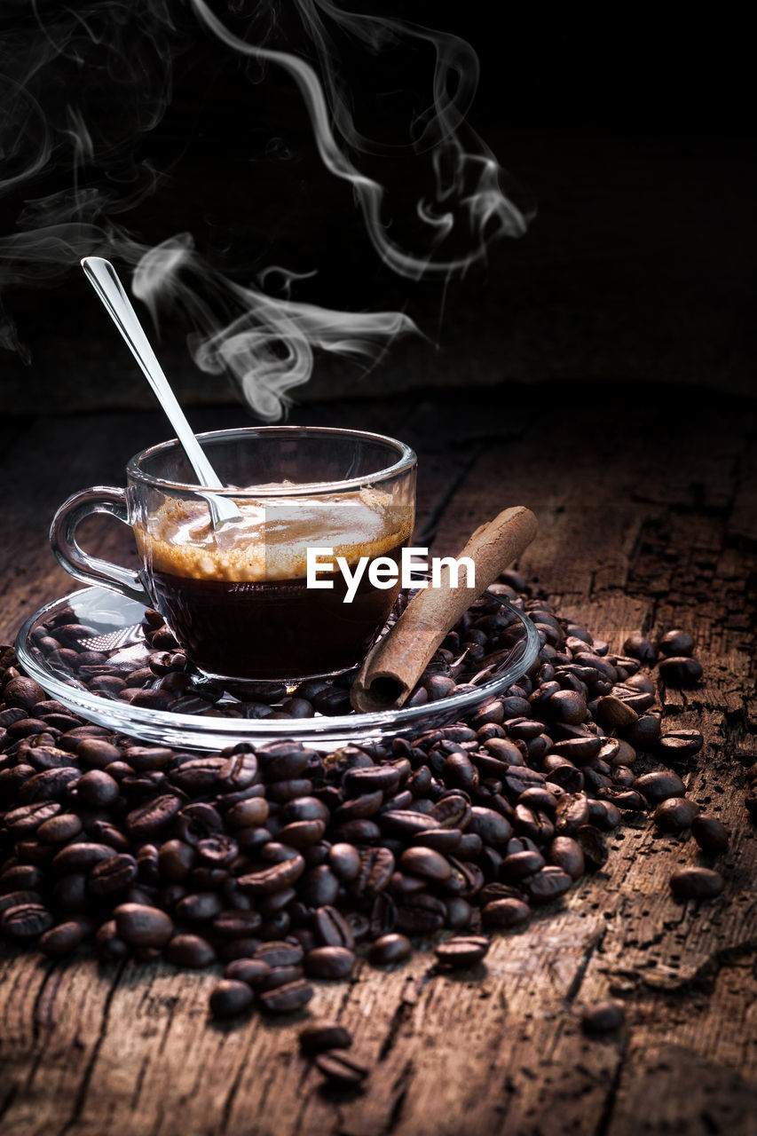
[[[286,504],[240,499],[241,521],[214,531],[198,500],[168,501],[134,533],[150,565],[155,602],[193,661],[210,674],[301,678],[357,663],[386,620],[399,584],[377,588],[365,570],[350,602],[341,571],[307,585],[308,548],[330,548],[353,569],[399,565],[411,510],[380,493]]]

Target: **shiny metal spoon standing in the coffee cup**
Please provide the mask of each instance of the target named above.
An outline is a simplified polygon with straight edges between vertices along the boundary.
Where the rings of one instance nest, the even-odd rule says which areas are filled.
[[[192,427],[186,421],[184,411],[176,401],[176,395],[150,346],[144,328],[118,279],[116,269],[109,260],[103,260],[102,257],[84,257],[81,264],[86,278],[102,300],[110,318],[126,340],[132,354],[144,371],[148,383],[157,394],[200,485],[207,488],[223,490],[224,483],[208,461]],[[221,496],[217,493],[202,493],[200,495],[208,502],[214,528],[218,528],[219,525],[225,525],[230,520],[242,519],[242,515],[230,498]]]

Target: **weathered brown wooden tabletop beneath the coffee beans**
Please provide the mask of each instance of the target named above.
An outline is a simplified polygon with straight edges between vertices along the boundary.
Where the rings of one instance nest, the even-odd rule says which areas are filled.
[[[434,552],[455,551],[507,503],[541,525],[521,570],[619,650],[626,634],[690,628],[705,682],[673,693],[666,724],[706,746],[689,794],[732,833],[725,894],[680,903],[667,879],[692,841],[646,818],[614,834],[605,871],[497,936],[485,968],[441,976],[433,955],[321,984],[374,1066],[364,1094],[324,1094],[298,1054],[297,1020],[208,1021],[211,974],[98,968],[7,952],[0,968],[5,1136],[226,1134],[477,1136],[757,1133],[757,842],[743,803],[757,749],[754,687],[757,457],[754,403],[654,386],[565,382],[521,393],[421,393],[309,408],[292,420],[409,440]],[[192,414],[196,428],[246,420]],[[7,419],[2,442],[0,636],[70,591],[47,548],[57,503],[119,484],[127,457],[164,436],[157,414]],[[93,526],[124,556],[128,533]],[[626,1026],[589,1039],[580,1008],[612,993]]]

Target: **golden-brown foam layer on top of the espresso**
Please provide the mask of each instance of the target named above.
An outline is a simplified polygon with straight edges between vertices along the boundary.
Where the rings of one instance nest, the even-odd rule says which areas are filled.
[[[241,520],[213,528],[199,499],[172,500],[134,525],[148,567],[192,579],[285,580],[307,575],[308,548],[352,566],[409,541],[413,510],[376,490],[314,499],[239,499]],[[324,578],[323,576],[321,578]]]

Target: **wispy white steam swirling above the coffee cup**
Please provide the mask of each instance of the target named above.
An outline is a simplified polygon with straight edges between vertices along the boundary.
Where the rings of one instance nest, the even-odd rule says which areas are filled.
[[[274,269],[258,273],[259,287],[242,286],[203,260],[190,234],[150,248],[116,223],[164,181],[134,154],[169,103],[175,59],[197,48],[200,31],[234,57],[293,80],[325,168],[351,185],[373,247],[394,273],[413,279],[461,274],[493,240],[522,235],[531,214],[505,193],[504,172],[466,123],[479,65],[463,40],[346,12],[331,0],[294,0],[314,65],[268,45],[275,25],[255,42],[238,34],[228,22],[239,9],[226,0],[222,18],[206,0],[178,8],[167,0],[92,0],[89,7],[5,0],[0,19],[11,30],[0,34],[0,203],[15,217],[15,231],[0,236],[0,293],[55,284],[83,256],[133,266],[134,293],[156,324],[163,312],[182,310],[194,327],[189,345],[198,366],[231,374],[256,414],[273,420],[288,392],[308,381],[315,350],[371,362],[396,335],[417,328],[401,312],[334,312],[294,302],[289,285],[308,273],[275,270],[283,298],[264,291]],[[375,58],[398,43],[427,52],[432,98],[409,124],[407,141],[382,144],[358,131],[335,35]],[[389,235],[386,190],[357,164],[359,154],[402,151],[425,162],[432,183],[415,207],[413,247],[396,231]],[[24,352],[1,306],[0,345]]]

